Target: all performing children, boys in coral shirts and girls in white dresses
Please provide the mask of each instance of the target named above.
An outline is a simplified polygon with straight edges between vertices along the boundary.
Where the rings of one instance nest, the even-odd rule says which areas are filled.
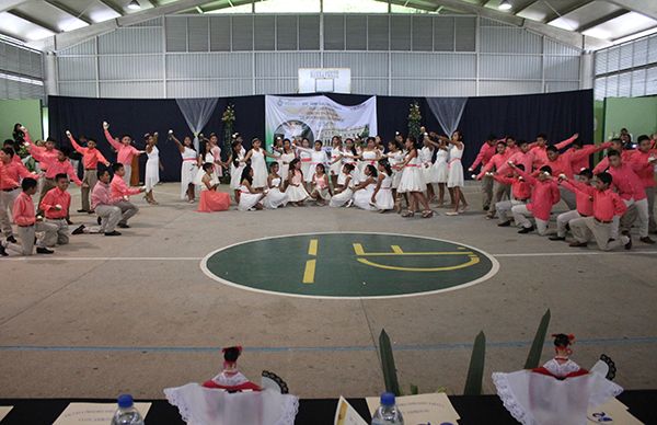
[[[130,196],[145,193],[148,203],[157,204],[153,186],[162,169],[158,134],[145,135],[146,149],[138,150],[130,136],[114,138],[107,123],[103,123],[103,129],[117,156],[112,165],[97,150],[95,140],[88,139],[83,147],[67,131],[71,146],[82,156],[82,180],[66,149],[55,149],[54,140],[34,143],[27,130],[20,128],[21,142],[38,161],[38,174],[24,166],[15,153],[20,147],[13,140],[5,141],[0,151],[0,228],[4,236],[1,255],[30,255],[34,244],[37,253],[48,254],[53,253],[51,246],[68,243],[69,180],[81,187],[82,208],[78,211],[96,214],[99,223],[80,226],[73,234],[118,236],[115,228],[128,228],[127,220],[138,211],[129,202]],[[180,141],[170,130],[169,140],[176,145],[182,157],[181,198],[194,203],[199,187],[198,211],[230,208],[230,195],[219,191],[219,179],[228,169],[230,188],[242,211],[314,202],[330,207],[394,210],[402,217],[419,213],[429,218],[435,214],[430,203],[436,202],[450,208],[448,216],[462,214],[469,207],[462,191],[461,159],[465,148],[462,134],[454,131],[447,138],[427,133],[424,127],[420,131],[420,146],[414,137],[403,138],[399,133],[387,146],[379,137],[355,142],[335,136],[328,152],[321,140],[311,147],[308,139],[281,137],[275,138],[270,151],[257,138],[246,151],[241,136],[235,134],[226,160],[215,134],[209,139],[200,137],[200,152],[194,149],[191,137]],[[577,134],[555,145],[550,145],[544,135],[533,142],[491,136],[468,171],[479,169],[479,174],[472,176],[482,182],[486,218],[497,215],[500,227],[514,221],[520,228],[519,233],[537,230],[541,236],[549,234],[552,209],[564,200],[569,210],[556,217],[556,231],[550,233],[550,240],[565,241],[570,231],[572,246],[585,246],[595,239],[601,250],[621,245],[630,249],[630,229],[635,222],[644,243],[655,243],[648,233],[657,231],[653,210],[657,141],[647,136],[637,141],[636,149],[627,149],[621,139],[581,145]],[[607,150],[606,158],[590,170],[589,157],[601,150]],[[143,153],[148,154],[146,185],[130,187],[132,160]],[[41,196],[35,208],[32,196],[37,192]],[[12,220],[18,227],[20,244]]]

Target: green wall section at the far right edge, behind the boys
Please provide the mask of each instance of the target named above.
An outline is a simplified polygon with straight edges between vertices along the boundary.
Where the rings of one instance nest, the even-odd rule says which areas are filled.
[[[604,137],[616,136],[627,128],[633,140],[657,131],[657,96],[607,97],[604,100]]]

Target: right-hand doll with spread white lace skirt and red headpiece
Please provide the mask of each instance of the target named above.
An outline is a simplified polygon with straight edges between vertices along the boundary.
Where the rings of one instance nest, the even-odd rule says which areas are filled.
[[[589,371],[570,360],[573,335],[552,336],[556,355],[542,367],[493,374],[497,395],[523,425],[587,424],[588,409],[606,403],[623,389],[607,379],[609,366],[603,361]]]

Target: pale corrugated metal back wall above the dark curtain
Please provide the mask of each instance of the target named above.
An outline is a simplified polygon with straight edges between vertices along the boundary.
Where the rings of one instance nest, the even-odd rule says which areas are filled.
[[[293,93],[298,68],[341,67],[354,93],[472,96],[577,90],[580,54],[468,15],[173,15],[58,51],[57,74],[61,95],[201,97]]]

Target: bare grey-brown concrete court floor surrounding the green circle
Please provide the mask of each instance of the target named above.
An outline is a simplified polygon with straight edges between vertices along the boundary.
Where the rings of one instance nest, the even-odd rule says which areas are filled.
[[[0,260],[0,398],[163,398],[163,388],[211,378],[229,344],[245,347],[247,376],[273,370],[302,398],[373,395],[383,388],[376,349],[383,328],[405,390],[450,393],[462,392],[483,330],[484,391],[494,392],[491,372],[523,366],[548,308],[551,333],[577,336],[576,361],[590,367],[606,353],[621,386],[657,388],[655,248],[574,250],[497,228],[479,211],[430,220],[316,207],[203,215],[177,193],[164,184],[161,205],[137,200],[141,211],[123,237],[72,237],[53,256]],[[477,187],[466,196],[479,206]],[[385,300],[263,295],[199,268],[207,253],[235,242],[313,231],[440,238],[493,254],[500,268],[468,288]],[[551,353],[546,346],[542,359]]]

